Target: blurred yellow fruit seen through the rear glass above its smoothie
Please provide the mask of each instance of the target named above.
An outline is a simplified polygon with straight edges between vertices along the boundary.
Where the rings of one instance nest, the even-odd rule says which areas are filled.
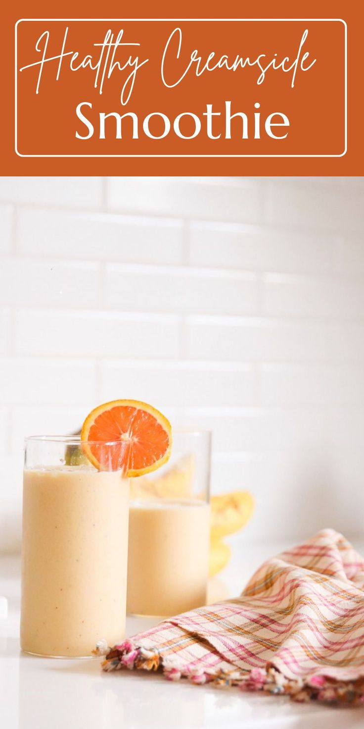
[[[191,496],[194,456],[189,454],[159,478],[140,476],[130,483],[131,499],[186,499]]]

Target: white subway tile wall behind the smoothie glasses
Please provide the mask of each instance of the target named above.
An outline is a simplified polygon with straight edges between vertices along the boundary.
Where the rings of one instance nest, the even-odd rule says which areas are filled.
[[[244,539],[364,533],[363,178],[0,178],[0,550],[23,437],[137,397],[213,431]]]

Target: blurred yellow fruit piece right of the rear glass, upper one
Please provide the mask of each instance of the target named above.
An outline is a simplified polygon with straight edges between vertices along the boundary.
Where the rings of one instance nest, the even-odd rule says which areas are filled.
[[[248,491],[232,491],[211,498],[211,537],[220,539],[239,531],[248,523],[254,510],[254,499]]]

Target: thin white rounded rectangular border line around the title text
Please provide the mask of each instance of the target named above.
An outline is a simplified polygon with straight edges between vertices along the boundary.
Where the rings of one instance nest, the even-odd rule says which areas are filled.
[[[340,155],[22,155],[17,149],[17,26],[20,23],[34,22],[53,23],[98,23],[110,21],[112,23],[342,23],[345,28],[344,46],[344,152]],[[347,154],[347,23],[341,17],[22,17],[15,23],[15,154],[18,157],[344,157]]]

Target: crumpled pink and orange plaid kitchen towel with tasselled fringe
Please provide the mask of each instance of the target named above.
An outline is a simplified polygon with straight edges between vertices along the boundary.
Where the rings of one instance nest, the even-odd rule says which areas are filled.
[[[364,706],[364,561],[325,529],[266,561],[237,599],[96,652],[104,671],[160,668],[173,681]]]

